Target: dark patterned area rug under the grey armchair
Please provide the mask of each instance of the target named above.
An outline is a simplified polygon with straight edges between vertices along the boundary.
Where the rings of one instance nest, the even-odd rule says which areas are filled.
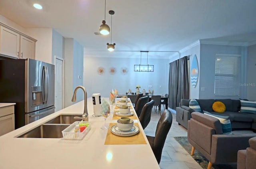
[[[189,154],[191,153],[192,145],[188,142],[187,137],[174,137],[174,139],[177,140]],[[209,161],[198,150],[195,149],[192,157],[203,169],[207,169]],[[212,165],[212,169],[236,169],[236,167],[236,163]]]

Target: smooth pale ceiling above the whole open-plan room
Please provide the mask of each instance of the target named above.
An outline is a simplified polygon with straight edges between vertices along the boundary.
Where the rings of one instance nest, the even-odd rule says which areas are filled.
[[[42,4],[42,10],[32,7]],[[109,35],[94,35],[104,20],[104,0],[0,0],[0,14],[24,28],[54,28],[84,46],[88,56],[106,55]],[[168,58],[198,39],[256,41],[256,0],[106,0],[115,52],[156,51]],[[124,52],[126,51],[126,52]],[[159,52],[161,51],[161,52]],[[140,52],[137,52],[140,53]],[[113,54],[111,54],[113,55]],[[150,53],[148,54],[150,57]]]

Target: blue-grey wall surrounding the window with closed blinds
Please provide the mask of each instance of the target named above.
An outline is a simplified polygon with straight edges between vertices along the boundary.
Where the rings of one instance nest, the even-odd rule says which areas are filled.
[[[215,55],[218,54],[236,54],[241,55],[241,72],[240,83],[246,82],[246,60],[247,47],[230,46],[230,45],[208,45],[201,44],[200,47],[200,88],[204,87],[205,91],[199,90],[200,99],[218,99],[246,98],[246,87],[240,87],[240,96],[214,96],[214,72],[215,72]]]

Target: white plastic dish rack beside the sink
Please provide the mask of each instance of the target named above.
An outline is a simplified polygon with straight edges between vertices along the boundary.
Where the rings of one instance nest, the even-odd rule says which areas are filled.
[[[86,127],[86,129],[84,129],[83,132],[76,133],[75,128],[76,128],[76,125],[79,125],[79,124],[89,124],[89,125]],[[90,122],[74,122],[73,124],[71,124],[70,126],[68,126],[66,129],[62,131],[62,136],[63,136],[63,139],[65,140],[82,140],[84,136],[88,134],[90,129],[91,129]]]

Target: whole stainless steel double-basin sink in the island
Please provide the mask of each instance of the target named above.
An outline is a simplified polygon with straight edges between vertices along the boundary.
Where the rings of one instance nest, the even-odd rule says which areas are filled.
[[[74,119],[75,116],[81,116],[81,114],[60,114],[56,118],[18,136],[18,138],[62,138],[62,130],[76,121],[81,121]]]

